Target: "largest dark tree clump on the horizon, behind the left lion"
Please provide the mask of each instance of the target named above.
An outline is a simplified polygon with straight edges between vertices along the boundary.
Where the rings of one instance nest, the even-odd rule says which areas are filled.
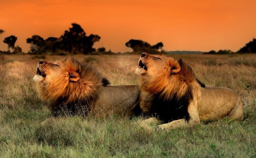
[[[79,24],[72,23],[72,27],[69,30],[65,30],[61,37],[48,37],[44,40],[39,35],[33,35],[26,40],[30,44],[29,52],[47,52],[53,53],[58,50],[65,50],[67,52],[77,53],[90,53],[96,51],[93,48],[93,44],[100,40],[99,35],[90,34],[86,36],[84,29]]]

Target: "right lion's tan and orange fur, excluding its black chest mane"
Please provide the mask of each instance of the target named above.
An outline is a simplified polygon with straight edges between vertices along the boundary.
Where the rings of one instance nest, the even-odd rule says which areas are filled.
[[[226,116],[243,120],[241,98],[233,90],[223,87],[201,87],[192,69],[185,63],[179,65],[172,57],[145,53],[139,63],[140,61],[147,68],[136,69],[137,75],[140,75],[140,108],[143,112],[151,112],[152,100],[156,94],[163,96],[163,101],[169,101],[174,96],[182,98],[189,90],[192,93],[187,109],[189,121],[175,120],[161,124],[157,129],[170,130],[180,126],[192,126],[204,120],[216,120]]]

